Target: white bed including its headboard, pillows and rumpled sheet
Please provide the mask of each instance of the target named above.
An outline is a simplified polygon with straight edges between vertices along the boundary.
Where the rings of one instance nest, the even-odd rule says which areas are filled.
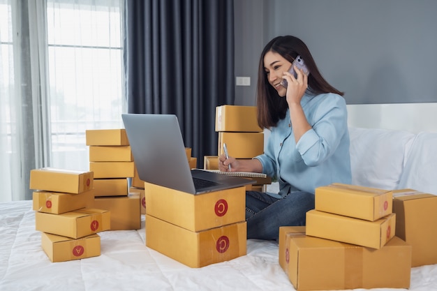
[[[437,103],[349,106],[351,126],[404,129],[413,133],[421,130],[434,132],[432,135],[418,134],[420,138],[417,141],[420,143],[413,142],[415,136],[405,131],[350,130],[351,142],[355,145],[351,148],[354,184],[376,188],[410,187],[437,194],[436,110]],[[413,118],[413,112],[417,112],[418,116]],[[371,142],[373,149],[380,149],[385,154],[372,154],[367,150],[369,147],[363,146],[366,142]],[[384,151],[387,144],[390,144],[388,152]],[[413,151],[415,158],[404,161],[406,151],[412,151],[412,148],[417,148]],[[362,156],[363,153],[369,156]],[[364,174],[359,161],[370,161],[378,166],[367,169],[369,172]],[[396,166],[387,170],[391,165]],[[0,290],[295,290],[279,266],[276,241],[249,239],[246,255],[192,269],[147,248],[144,215],[141,225],[140,230],[100,232],[101,255],[97,257],[52,263],[40,245],[40,232],[35,230],[32,202],[1,202]],[[394,290],[399,289],[373,289]],[[409,290],[437,290],[437,264],[412,268]]]

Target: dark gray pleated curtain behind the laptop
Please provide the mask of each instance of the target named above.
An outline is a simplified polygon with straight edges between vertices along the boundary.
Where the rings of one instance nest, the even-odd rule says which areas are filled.
[[[234,104],[233,0],[126,0],[129,113],[176,114],[203,166],[217,154],[215,107]]]

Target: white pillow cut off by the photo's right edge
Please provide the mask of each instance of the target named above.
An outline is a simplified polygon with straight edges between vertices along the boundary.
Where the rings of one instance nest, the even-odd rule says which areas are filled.
[[[417,134],[398,188],[437,195],[437,133]]]

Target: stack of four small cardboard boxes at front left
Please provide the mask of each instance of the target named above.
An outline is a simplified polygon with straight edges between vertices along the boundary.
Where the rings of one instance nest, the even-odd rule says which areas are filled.
[[[93,172],[55,168],[31,170],[36,230],[52,262],[100,255],[98,232],[110,227],[110,212],[89,208],[94,199]]]

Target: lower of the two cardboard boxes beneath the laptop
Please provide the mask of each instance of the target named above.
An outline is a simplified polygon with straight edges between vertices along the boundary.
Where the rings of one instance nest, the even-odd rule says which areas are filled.
[[[246,255],[246,222],[192,232],[146,214],[146,246],[191,268]]]

